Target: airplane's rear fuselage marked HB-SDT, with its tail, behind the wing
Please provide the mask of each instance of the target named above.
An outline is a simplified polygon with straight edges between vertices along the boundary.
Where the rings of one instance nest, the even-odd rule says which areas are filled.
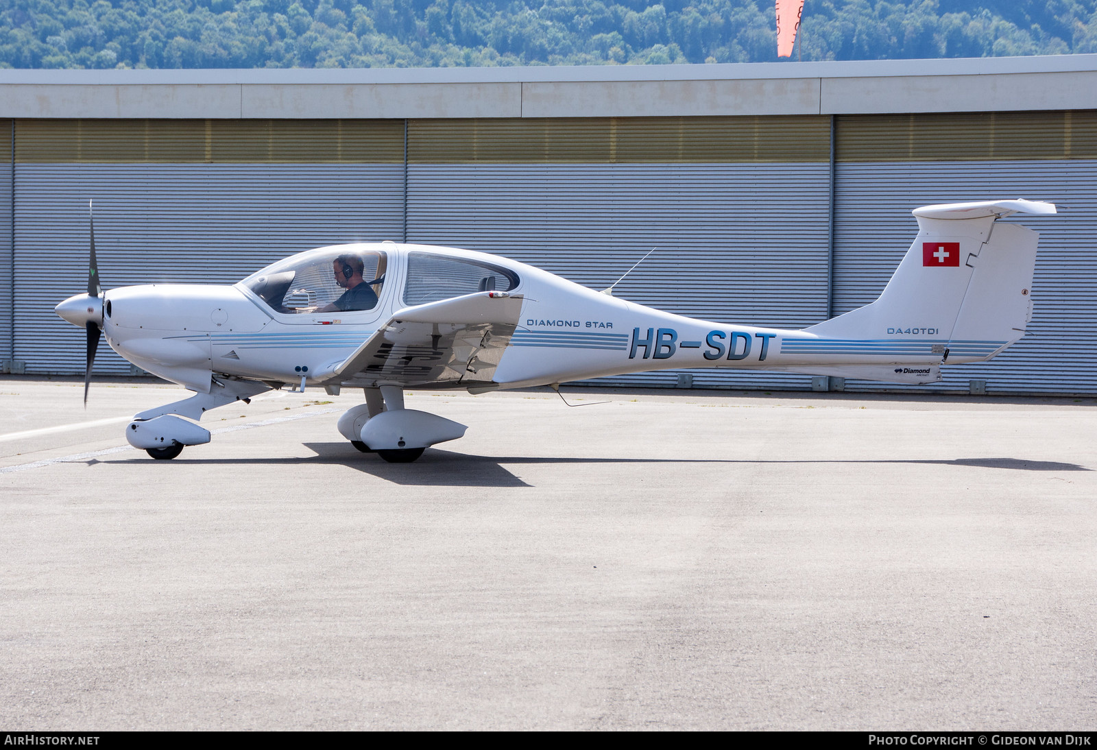
[[[1032,312],[1039,235],[998,220],[1022,212],[1047,215],[1055,207],[993,201],[915,209],[918,235],[880,297],[803,330],[709,322],[587,289],[585,328],[576,330],[583,326],[576,311],[574,320],[557,320],[551,330],[542,318],[568,316],[553,309],[542,314],[542,304],[527,295],[522,318],[528,328],[516,332],[496,382],[521,387],[719,367],[935,383],[942,365],[989,360],[1024,336]],[[606,322],[592,322],[599,315]],[[568,353],[546,361],[545,348]]]

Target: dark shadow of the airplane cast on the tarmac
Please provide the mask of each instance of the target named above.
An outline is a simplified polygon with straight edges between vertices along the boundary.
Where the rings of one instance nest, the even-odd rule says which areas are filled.
[[[1054,461],[1028,461],[1025,458],[895,458],[895,459],[751,459],[751,458],[615,458],[606,456],[477,456],[465,453],[454,453],[439,448],[428,448],[419,461],[412,464],[388,464],[378,456],[363,454],[346,442],[305,443],[315,456],[283,458],[192,458],[185,454],[179,461],[188,464],[207,464],[212,466],[246,466],[258,464],[265,466],[323,465],[332,464],[347,466],[363,474],[385,479],[396,485],[421,487],[530,487],[529,484],[514,476],[506,465],[541,464],[928,464],[937,466],[975,466],[994,469],[1013,469],[1022,471],[1092,471],[1093,469]],[[99,463],[92,459],[88,463]],[[159,462],[148,458],[132,458],[126,464],[157,465]]]

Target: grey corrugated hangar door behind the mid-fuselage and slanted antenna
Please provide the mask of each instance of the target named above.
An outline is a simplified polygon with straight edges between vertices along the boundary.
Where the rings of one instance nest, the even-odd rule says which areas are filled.
[[[429,125],[430,132],[421,126],[409,132],[416,136],[409,136],[409,241],[498,253],[591,288],[609,286],[658,247],[614,288],[617,296],[717,321],[802,327],[826,317],[828,166],[817,160],[818,148],[815,161],[779,162],[772,158],[777,147],[767,144],[780,139],[760,126],[756,132],[773,140],[761,148],[736,140],[735,158],[744,161],[703,162],[705,150],[711,155],[723,139],[713,139],[714,148],[698,128],[682,137],[677,120],[647,121],[643,127],[619,123],[613,155],[623,160],[631,149],[646,157],[643,162],[633,156],[627,163],[591,163],[609,158],[609,125],[592,121],[583,132],[568,122],[562,126],[577,139],[570,152],[578,156],[573,163],[552,163],[545,160],[569,151],[567,138],[548,126],[532,126],[523,141],[519,125],[508,132],[496,123],[495,130],[476,134],[480,156],[470,156],[472,139],[460,129],[466,124],[456,133],[438,122]],[[816,138],[825,127],[828,137],[825,121],[801,126]],[[620,134],[627,127],[651,147],[624,143]],[[583,140],[586,136],[596,143]],[[692,145],[680,146],[690,138]],[[757,160],[747,162],[742,149]],[[822,152],[827,149],[824,140]],[[420,161],[446,154],[472,163]],[[653,163],[653,156],[681,161]],[[692,375],[697,387],[810,387],[802,375],[716,370]],[[671,371],[599,382],[654,386],[674,384],[676,376]]]

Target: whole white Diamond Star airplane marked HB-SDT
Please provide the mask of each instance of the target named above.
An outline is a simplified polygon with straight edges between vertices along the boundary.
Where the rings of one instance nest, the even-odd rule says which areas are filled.
[[[360,451],[410,462],[466,428],[406,409],[406,388],[480,394],[686,367],[935,383],[942,366],[985,362],[1025,333],[1039,236],[997,221],[1015,213],[1055,206],[915,209],[918,235],[880,298],[803,330],[697,320],[506,258],[393,242],[297,253],[233,286],[104,294],[94,225],[88,293],[56,311],[87,330],[84,402],[102,333],[129,362],[194,391],[126,427],[154,458],[210,442],[195,423],[210,409],[292,385],[362,388],[365,404],[342,414],[339,432]]]

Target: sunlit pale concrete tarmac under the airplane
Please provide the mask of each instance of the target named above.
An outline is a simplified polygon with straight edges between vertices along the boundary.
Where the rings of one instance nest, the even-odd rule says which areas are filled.
[[[1097,727],[1093,399],[185,395],[0,378],[0,727]]]

